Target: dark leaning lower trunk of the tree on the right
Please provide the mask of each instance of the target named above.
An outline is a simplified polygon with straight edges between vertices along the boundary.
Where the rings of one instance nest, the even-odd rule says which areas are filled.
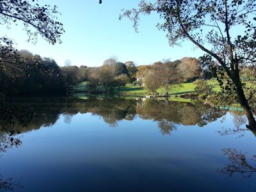
[[[241,81],[240,81],[240,79],[238,79],[238,80],[234,79],[233,81],[234,81],[234,84],[236,85],[236,92],[239,97],[239,102],[240,102],[242,108],[244,109],[246,116],[248,118],[248,122],[249,122],[248,128],[256,130],[256,121],[253,116],[252,109],[250,108],[250,106],[248,104],[248,100],[246,99],[246,97],[244,95],[244,90],[243,90]]]

